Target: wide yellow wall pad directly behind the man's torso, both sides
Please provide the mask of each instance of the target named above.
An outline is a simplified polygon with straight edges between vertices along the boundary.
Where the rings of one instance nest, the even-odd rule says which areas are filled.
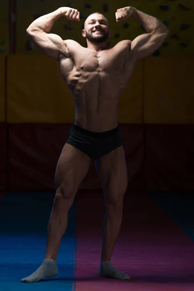
[[[74,100],[56,61],[44,56],[9,56],[7,71],[9,123],[74,121]],[[119,123],[142,123],[142,95],[141,60],[120,96]]]

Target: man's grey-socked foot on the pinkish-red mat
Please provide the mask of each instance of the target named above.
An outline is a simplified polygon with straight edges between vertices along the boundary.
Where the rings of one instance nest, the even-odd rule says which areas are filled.
[[[129,280],[130,277],[117,270],[111,263],[111,261],[100,262],[99,270],[97,273],[101,277],[109,277],[113,279]]]

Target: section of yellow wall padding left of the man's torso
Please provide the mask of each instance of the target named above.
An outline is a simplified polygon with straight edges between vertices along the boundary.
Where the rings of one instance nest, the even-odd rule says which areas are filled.
[[[9,123],[74,121],[74,100],[57,61],[45,56],[9,56]]]

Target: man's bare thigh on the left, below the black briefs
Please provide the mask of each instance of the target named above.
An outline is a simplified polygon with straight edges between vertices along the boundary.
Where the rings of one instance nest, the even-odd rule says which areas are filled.
[[[85,178],[91,159],[79,149],[65,144],[55,173],[55,187],[63,188],[65,195],[72,196],[78,191]]]

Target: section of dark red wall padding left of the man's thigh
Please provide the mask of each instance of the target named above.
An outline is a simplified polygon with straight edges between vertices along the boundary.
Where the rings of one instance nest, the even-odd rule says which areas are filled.
[[[10,124],[9,189],[53,190],[70,125]]]

